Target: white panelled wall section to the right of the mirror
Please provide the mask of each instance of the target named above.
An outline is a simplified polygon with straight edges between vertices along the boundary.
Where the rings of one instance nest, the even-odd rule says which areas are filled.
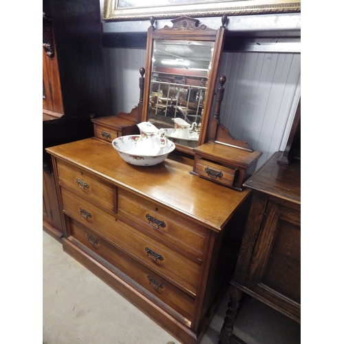
[[[223,54],[220,120],[233,138],[263,152],[258,166],[286,147],[301,92],[300,59],[295,53]]]

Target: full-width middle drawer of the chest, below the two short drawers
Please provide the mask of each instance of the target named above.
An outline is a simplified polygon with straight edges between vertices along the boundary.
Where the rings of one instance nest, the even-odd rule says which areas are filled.
[[[65,213],[195,297],[200,283],[200,264],[178,255],[173,247],[155,241],[70,191],[61,189],[61,195]]]

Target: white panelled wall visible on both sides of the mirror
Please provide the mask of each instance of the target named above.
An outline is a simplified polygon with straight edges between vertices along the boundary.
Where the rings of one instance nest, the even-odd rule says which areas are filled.
[[[105,48],[107,99],[111,114],[138,105],[140,67],[146,50]],[[301,94],[301,54],[224,52],[219,76],[226,76],[220,120],[231,136],[264,154],[261,166],[286,147]]]

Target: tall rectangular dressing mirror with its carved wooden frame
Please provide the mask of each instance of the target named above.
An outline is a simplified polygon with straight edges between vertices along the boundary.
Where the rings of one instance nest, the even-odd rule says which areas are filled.
[[[177,150],[193,154],[207,140],[226,16],[219,30],[189,17],[171,22],[155,30],[151,19],[142,118],[165,129]]]

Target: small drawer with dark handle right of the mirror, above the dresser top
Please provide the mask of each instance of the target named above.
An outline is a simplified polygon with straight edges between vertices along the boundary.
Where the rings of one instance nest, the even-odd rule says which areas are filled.
[[[226,186],[233,186],[238,169],[230,166],[222,166],[202,158],[195,158],[193,171],[208,180],[213,180]]]

